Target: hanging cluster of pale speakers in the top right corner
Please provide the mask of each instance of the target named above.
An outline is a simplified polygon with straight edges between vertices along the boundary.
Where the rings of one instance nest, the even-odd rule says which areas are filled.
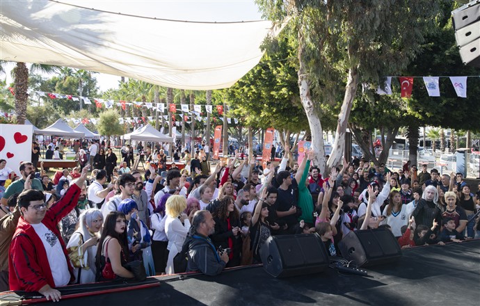
[[[463,63],[480,67],[480,0],[454,10],[451,19]]]

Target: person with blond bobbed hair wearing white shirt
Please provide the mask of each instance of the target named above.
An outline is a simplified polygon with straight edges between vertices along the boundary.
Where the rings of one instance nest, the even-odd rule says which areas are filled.
[[[175,273],[173,269],[173,258],[181,250],[186,235],[189,234],[189,217],[183,212],[186,209],[186,198],[182,195],[171,195],[166,202],[167,219],[165,221],[165,232],[168,239],[168,253],[166,273]]]

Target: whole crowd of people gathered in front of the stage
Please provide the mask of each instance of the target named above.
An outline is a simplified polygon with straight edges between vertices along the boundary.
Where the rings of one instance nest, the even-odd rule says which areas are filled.
[[[104,160],[92,158],[92,145]],[[147,147],[142,174],[128,164],[113,172],[110,148],[94,142],[89,149],[90,164],[54,177],[41,168],[35,178],[34,164],[22,163],[21,177],[3,191],[1,291],[58,300],[55,287],[135,277],[132,261],[143,262],[147,275],[217,275],[261,263],[259,250],[274,235],[316,233],[330,256],[341,256],[342,237],[368,228],[387,227],[402,248],[480,234],[479,218],[468,222],[480,194],[470,193],[461,174],[439,177],[426,165],[393,172],[355,158],[322,177],[312,150],[287,166],[287,147],[279,164],[263,167],[235,154],[211,170],[209,155],[196,147],[184,169],[167,170],[165,148],[152,154]],[[4,168],[0,160],[2,186]]]

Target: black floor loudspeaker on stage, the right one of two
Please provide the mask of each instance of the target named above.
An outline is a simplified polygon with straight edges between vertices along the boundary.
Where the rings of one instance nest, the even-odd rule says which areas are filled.
[[[390,264],[401,257],[401,248],[386,228],[349,232],[338,243],[342,257],[358,266]]]

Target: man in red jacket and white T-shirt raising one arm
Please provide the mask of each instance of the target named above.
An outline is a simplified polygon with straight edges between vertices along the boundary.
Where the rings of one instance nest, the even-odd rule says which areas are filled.
[[[51,298],[56,302],[61,293],[54,287],[65,286],[74,280],[57,224],[77,206],[88,168],[83,168],[77,182],[48,210],[41,191],[29,189],[18,196],[22,216],[8,256],[10,290],[38,291],[47,300]]]

